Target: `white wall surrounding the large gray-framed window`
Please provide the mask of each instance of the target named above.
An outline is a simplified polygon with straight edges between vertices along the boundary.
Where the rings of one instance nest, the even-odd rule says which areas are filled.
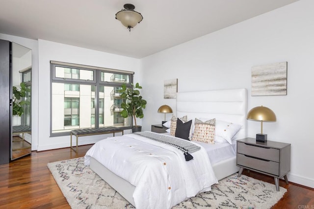
[[[134,82],[140,82],[140,60],[91,49],[38,40],[38,148],[48,150],[70,146],[70,137],[50,137],[50,61],[134,71]],[[112,135],[109,135],[112,136]],[[80,138],[79,145],[89,144],[105,136]]]

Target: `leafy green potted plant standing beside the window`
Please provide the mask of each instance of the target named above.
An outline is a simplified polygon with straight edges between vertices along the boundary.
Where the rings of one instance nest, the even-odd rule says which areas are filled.
[[[143,109],[146,107],[146,100],[142,98],[138,89],[142,89],[142,87],[136,83],[135,86],[131,84],[132,87],[127,87],[126,84],[121,85],[121,98],[123,98],[123,102],[121,107],[123,111],[121,112],[121,116],[127,118],[128,116],[133,117],[135,126],[132,126],[132,133],[141,131],[142,126],[138,126],[136,123],[136,117],[143,118]]]

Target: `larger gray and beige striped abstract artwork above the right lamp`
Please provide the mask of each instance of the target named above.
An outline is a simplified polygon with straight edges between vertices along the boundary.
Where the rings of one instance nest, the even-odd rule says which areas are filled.
[[[252,67],[252,96],[287,95],[287,62]]]

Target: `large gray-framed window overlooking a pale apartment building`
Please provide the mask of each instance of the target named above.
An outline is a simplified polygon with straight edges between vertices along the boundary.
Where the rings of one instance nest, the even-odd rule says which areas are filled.
[[[121,72],[120,72],[121,71]],[[120,87],[131,86],[133,72],[51,61],[51,136],[70,130],[131,126],[120,115]]]

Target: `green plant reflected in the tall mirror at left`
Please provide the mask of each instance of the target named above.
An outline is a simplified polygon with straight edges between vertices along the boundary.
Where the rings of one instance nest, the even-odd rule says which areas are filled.
[[[30,89],[26,87],[26,84],[22,82],[20,88],[13,86],[13,103],[12,103],[12,115],[22,116],[24,114],[24,106],[29,104],[29,101],[24,101],[26,92],[30,92]]]

